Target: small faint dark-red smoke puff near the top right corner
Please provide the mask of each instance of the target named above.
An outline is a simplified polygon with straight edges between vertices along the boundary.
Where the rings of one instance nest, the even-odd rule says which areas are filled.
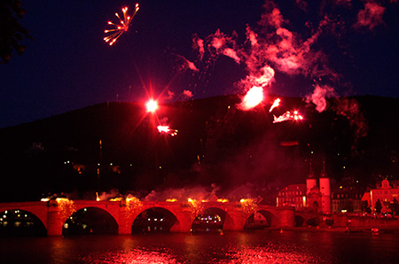
[[[385,7],[377,3],[369,2],[364,4],[364,10],[357,13],[357,22],[355,27],[369,27],[372,29],[383,23],[382,16]]]

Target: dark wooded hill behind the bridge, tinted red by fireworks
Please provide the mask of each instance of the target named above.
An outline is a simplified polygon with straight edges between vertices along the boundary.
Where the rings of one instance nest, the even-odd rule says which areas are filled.
[[[136,103],[105,103],[1,129],[1,200],[213,183],[224,196],[241,186],[250,187],[237,197],[262,195],[304,182],[309,160],[317,174],[325,160],[337,181],[398,175],[399,99],[331,98],[323,113],[301,98],[282,98],[272,113],[270,104],[239,111],[239,101],[176,102],[156,114]],[[273,123],[273,114],[293,109],[305,120]],[[160,134],[160,123],[178,134]]]

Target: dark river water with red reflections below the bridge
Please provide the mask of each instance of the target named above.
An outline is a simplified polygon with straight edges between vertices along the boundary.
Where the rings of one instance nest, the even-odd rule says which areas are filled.
[[[1,237],[0,263],[399,263],[399,234],[254,230]]]

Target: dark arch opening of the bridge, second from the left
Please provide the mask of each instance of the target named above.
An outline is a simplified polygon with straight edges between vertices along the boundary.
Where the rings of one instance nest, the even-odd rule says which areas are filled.
[[[117,235],[119,225],[113,215],[98,206],[76,210],[63,222],[62,235]]]

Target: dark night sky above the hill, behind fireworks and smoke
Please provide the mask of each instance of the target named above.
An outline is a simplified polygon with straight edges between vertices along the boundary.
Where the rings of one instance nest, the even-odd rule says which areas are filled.
[[[242,93],[240,80],[265,65],[275,70],[267,90],[274,94],[306,97],[328,85],[327,96],[399,97],[398,1],[279,2],[139,1],[129,31],[109,46],[106,22],[136,2],[22,0],[20,22],[34,41],[0,65],[0,128],[107,101],[145,101],[151,90],[163,91],[165,102]],[[217,29],[228,41],[207,50]],[[193,35],[204,40],[202,59]]]

